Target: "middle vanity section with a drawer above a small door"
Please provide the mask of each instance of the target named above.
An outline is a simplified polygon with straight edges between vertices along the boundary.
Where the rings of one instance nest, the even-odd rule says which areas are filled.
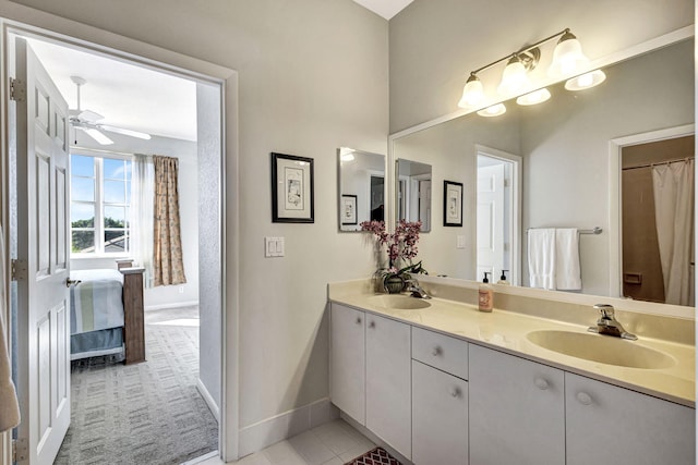
[[[468,343],[412,328],[412,462],[468,463]]]

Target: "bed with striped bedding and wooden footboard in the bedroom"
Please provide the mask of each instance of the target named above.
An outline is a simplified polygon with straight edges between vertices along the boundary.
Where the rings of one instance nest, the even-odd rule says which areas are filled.
[[[71,271],[71,360],[112,354],[125,364],[145,360],[143,268],[131,264]]]

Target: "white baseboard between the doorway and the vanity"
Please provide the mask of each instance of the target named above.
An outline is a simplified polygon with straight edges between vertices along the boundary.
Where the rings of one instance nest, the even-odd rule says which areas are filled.
[[[339,418],[329,397],[285,412],[240,429],[239,457],[250,455],[279,441]]]

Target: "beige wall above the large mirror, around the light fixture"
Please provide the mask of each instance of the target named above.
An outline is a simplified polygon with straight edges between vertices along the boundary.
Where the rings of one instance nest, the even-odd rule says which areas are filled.
[[[694,15],[693,0],[416,0],[390,20],[390,132],[457,111],[470,71],[565,27],[597,59]]]

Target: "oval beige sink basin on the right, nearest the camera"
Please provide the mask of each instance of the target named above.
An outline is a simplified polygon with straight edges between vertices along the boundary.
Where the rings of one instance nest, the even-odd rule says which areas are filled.
[[[676,360],[663,352],[611,335],[542,330],[529,332],[526,338],[549,351],[586,360],[627,368],[669,368]]]

